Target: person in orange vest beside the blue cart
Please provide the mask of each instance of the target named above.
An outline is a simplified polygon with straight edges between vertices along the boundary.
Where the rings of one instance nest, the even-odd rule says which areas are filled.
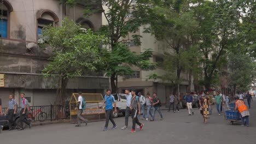
[[[245,102],[243,100],[240,100],[236,98],[236,107],[235,111],[238,109],[240,116],[241,116],[241,126],[245,126],[245,119],[246,119],[246,126],[249,127],[249,111],[247,106],[245,105]]]

